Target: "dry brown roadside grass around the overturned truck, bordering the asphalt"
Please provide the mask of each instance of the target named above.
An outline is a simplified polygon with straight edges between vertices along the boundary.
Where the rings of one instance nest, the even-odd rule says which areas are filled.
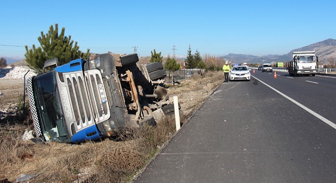
[[[222,74],[216,73],[169,86],[170,95],[179,98],[182,122],[221,81]],[[0,182],[15,182],[22,173],[38,175],[30,182],[129,182],[175,134],[175,121],[166,118],[118,140],[36,144],[21,140],[27,128],[23,124],[0,127]]]

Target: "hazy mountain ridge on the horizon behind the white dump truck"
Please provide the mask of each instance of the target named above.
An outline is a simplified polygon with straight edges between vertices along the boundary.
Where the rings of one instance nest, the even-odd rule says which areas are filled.
[[[319,56],[319,60],[322,63],[326,63],[328,57],[336,56],[336,40],[327,39],[321,42],[317,42],[308,46],[293,49],[287,54],[283,55],[265,55],[265,56],[254,56],[254,55],[244,55],[244,54],[233,54],[230,53],[225,56],[221,56],[226,60],[232,60],[233,63],[271,63],[271,62],[286,62],[292,59],[293,51],[315,51]]]

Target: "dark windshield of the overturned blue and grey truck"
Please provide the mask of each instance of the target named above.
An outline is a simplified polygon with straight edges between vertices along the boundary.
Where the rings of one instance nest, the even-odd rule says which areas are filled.
[[[45,139],[47,141],[68,142],[55,71],[35,77],[33,82],[37,110]]]

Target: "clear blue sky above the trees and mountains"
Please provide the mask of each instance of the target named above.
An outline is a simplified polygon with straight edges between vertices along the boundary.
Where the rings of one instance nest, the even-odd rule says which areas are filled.
[[[162,55],[285,54],[336,39],[336,1],[9,1],[1,3],[1,56],[24,57],[24,47],[59,24],[81,51]]]

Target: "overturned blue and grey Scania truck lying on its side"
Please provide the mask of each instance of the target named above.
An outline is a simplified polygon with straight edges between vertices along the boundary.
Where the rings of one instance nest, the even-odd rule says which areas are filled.
[[[111,52],[62,66],[57,58],[47,60],[43,73],[27,81],[36,136],[68,143],[97,140],[155,125],[174,112],[162,64],[138,65],[138,60],[137,54]]]

